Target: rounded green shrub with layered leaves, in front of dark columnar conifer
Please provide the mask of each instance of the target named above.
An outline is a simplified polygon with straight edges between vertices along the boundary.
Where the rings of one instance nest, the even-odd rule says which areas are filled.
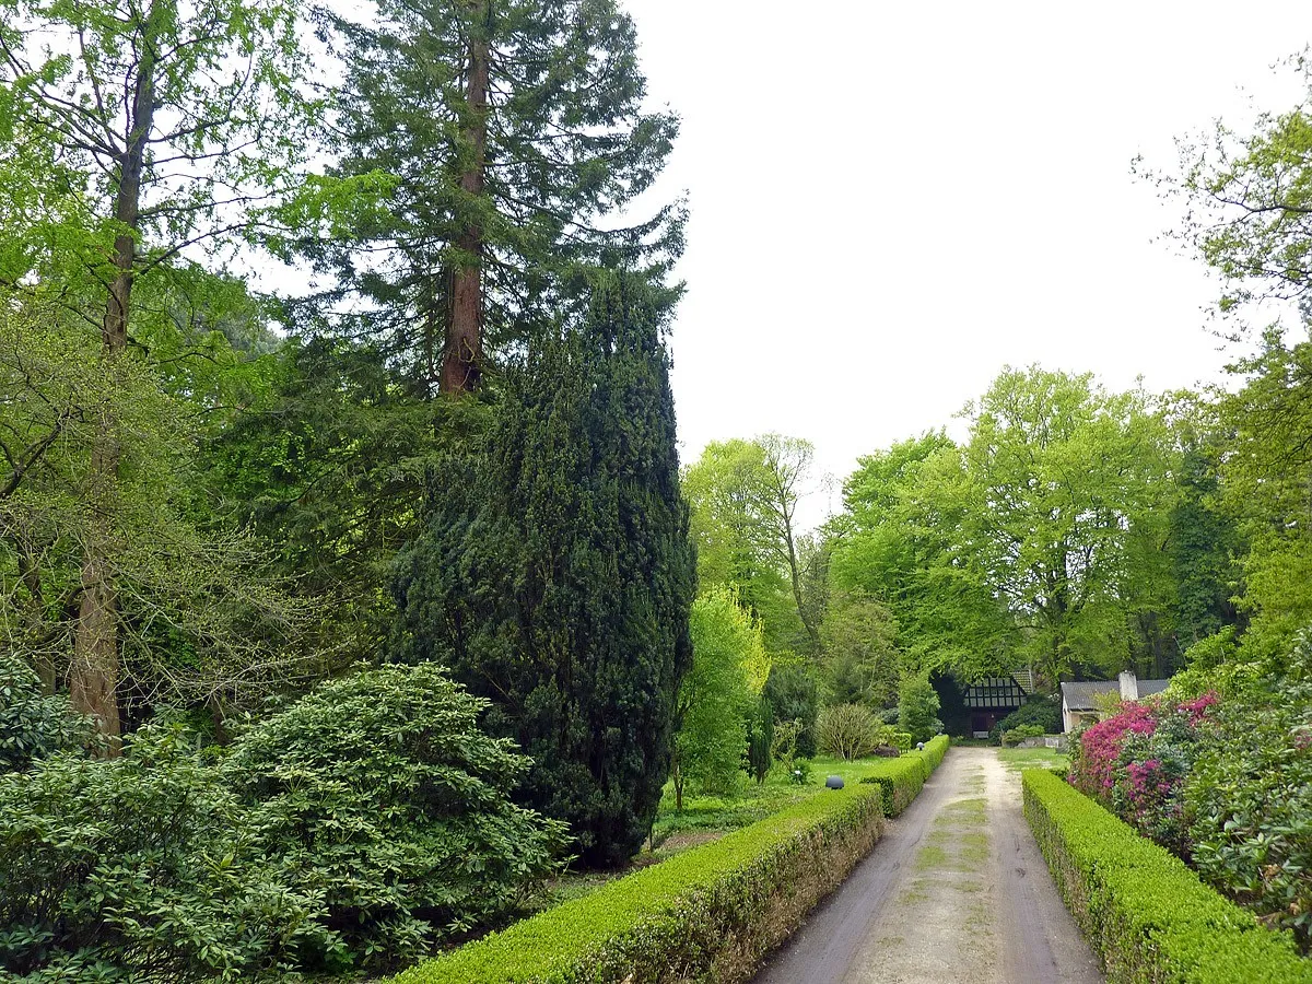
[[[510,803],[527,760],[432,664],[327,684],[241,735],[224,773],[290,884],[373,964],[485,924],[556,870],[564,825]]]

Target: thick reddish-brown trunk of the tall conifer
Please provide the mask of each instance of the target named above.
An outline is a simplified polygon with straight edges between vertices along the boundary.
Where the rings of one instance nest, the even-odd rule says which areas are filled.
[[[471,0],[470,75],[464,91],[468,123],[464,140],[470,154],[461,174],[461,190],[483,194],[487,171],[488,112],[488,0]],[[457,396],[479,386],[483,361],[483,228],[471,220],[455,237],[462,256],[451,272],[451,308],[442,350],[442,392]]]

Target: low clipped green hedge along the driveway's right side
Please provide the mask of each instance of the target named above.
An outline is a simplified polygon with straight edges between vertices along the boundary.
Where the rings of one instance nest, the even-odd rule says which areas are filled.
[[[1292,937],[1263,928],[1051,771],[1023,777],[1025,816],[1109,980],[1312,983],[1312,960]]]

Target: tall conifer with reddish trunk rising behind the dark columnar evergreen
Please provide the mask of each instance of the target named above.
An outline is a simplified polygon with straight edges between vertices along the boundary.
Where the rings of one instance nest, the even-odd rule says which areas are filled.
[[[382,171],[386,207],[311,247],[356,306],[346,325],[419,388],[478,387],[484,356],[586,307],[601,266],[660,279],[678,203],[611,218],[661,171],[678,129],[644,113],[632,20],[614,0],[380,0],[336,17],[345,47],[340,172]]]

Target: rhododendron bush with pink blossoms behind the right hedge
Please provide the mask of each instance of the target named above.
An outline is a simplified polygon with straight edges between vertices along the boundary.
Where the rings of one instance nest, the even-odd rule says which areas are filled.
[[[1122,705],[1069,781],[1312,950],[1312,643],[1224,701]]]

